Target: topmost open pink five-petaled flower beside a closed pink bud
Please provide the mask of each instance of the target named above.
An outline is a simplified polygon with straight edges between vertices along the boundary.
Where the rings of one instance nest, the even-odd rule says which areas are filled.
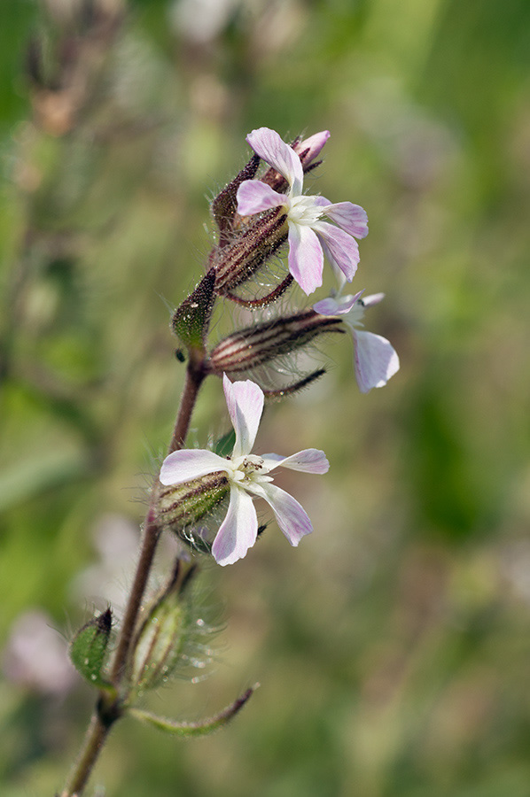
[[[316,150],[320,151],[328,135],[326,131],[308,141],[313,146],[315,139]],[[261,159],[282,174],[289,190],[280,194],[264,182],[246,180],[238,188],[238,213],[250,216],[284,207],[289,226],[289,271],[307,294],[322,285],[324,253],[337,275],[344,275],[351,282],[359,262],[355,238],[368,234],[365,211],[352,202],[332,205],[325,197],[304,196],[300,157],[274,130],[253,130],[246,141]],[[335,224],[323,221],[326,217]]]

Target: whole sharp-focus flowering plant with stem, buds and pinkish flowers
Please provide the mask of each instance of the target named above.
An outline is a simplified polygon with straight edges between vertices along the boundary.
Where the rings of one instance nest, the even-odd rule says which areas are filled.
[[[308,295],[320,287],[324,259],[338,276],[339,287],[355,276],[357,239],[368,232],[366,213],[351,202],[333,204],[303,193],[304,174],[320,165],[317,159],[328,138],[324,131],[289,145],[273,130],[253,130],[247,136],[251,159],[214,198],[216,240],[205,273],[171,320],[178,359],[186,362],[185,380],[167,456],[152,478],[127,607],[118,627],[109,607],[85,623],[71,641],[71,659],[97,688],[98,697],[61,797],[83,792],[109,731],[121,717],[135,717],[178,737],[197,736],[229,722],[253,693],[249,689],[199,723],[177,723],[139,706],[145,693],[177,674],[190,662],[194,646],[202,644],[197,638],[201,623],[194,577],[204,558],[226,566],[249,553],[263,530],[254,501],[269,505],[292,546],[313,531],[298,500],[280,486],[280,474],[281,468],[290,468],[323,475],[330,467],[325,454],[301,446],[292,454],[258,453],[254,446],[265,403],[291,396],[321,377],[324,369],[293,374],[287,383],[284,380],[280,386],[278,380],[273,387],[261,380],[262,369],[274,375],[281,364],[284,376],[285,356],[303,351],[316,337],[347,331],[354,337],[355,374],[362,392],[381,387],[399,368],[392,345],[359,327],[364,308],[381,295],[362,299],[359,291],[354,296],[321,298],[312,308],[288,313],[286,303],[278,302],[293,281]],[[264,292],[256,276],[285,247],[288,271]],[[270,309],[265,320],[213,340],[214,308],[226,302],[251,311]],[[188,448],[193,409],[210,376],[219,380],[220,397],[221,388],[224,392],[232,429],[211,449]],[[304,440],[301,445],[309,443]],[[153,558],[162,534],[178,538],[179,553],[168,584],[150,595]]]

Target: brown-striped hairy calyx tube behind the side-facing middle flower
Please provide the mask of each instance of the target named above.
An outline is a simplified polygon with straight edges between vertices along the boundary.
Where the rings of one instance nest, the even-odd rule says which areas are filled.
[[[314,310],[255,324],[218,343],[210,354],[208,367],[216,375],[239,374],[294,352],[324,332],[342,333],[341,327],[336,317],[319,315]]]

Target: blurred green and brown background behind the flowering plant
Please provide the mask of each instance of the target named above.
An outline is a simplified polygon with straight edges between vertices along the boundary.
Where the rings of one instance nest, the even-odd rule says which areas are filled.
[[[168,307],[208,201],[251,129],[327,128],[308,185],[366,208],[356,290],[385,291],[367,328],[401,370],[362,396],[331,338],[328,374],[269,409],[258,450],[331,460],[281,482],[315,533],[292,549],[271,524],[206,569],[211,675],[148,705],[194,719],[261,689],[204,740],[118,723],[87,793],[527,797],[530,4],[136,0],[115,24],[114,0],[75,5],[1,11],[2,645],[35,609],[68,637],[127,584],[134,546],[107,570],[101,549],[134,543],[171,433]],[[240,322],[224,308],[214,337]],[[191,443],[226,429],[212,380]],[[60,788],[92,696],[59,693],[0,682],[3,797]]]

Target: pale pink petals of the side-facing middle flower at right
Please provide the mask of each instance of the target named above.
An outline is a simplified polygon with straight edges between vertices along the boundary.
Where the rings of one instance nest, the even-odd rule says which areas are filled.
[[[385,297],[384,293],[374,293],[372,296],[361,298],[362,293],[360,290],[355,296],[325,298],[316,302],[313,309],[321,315],[343,316],[342,321],[347,324],[354,338],[357,384],[362,393],[367,393],[373,387],[383,387],[399,370],[400,360],[386,337],[358,329],[363,326],[362,316],[365,308],[377,305]]]

